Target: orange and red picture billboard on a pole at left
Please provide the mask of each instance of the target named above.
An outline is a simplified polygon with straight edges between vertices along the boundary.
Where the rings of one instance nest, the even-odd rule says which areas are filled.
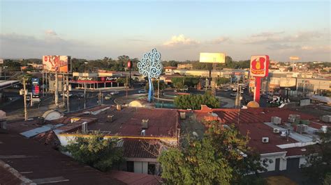
[[[70,56],[43,56],[43,70],[48,72],[71,72]]]

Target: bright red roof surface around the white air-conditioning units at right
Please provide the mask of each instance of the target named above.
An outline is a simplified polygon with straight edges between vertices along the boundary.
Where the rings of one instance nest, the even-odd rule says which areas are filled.
[[[248,108],[248,109],[234,109],[234,108],[214,108],[205,109],[202,111],[195,111],[199,120],[205,120],[210,116],[210,112],[219,115],[219,122],[223,124],[235,124],[240,130],[240,133],[251,138],[249,146],[260,152],[260,154],[272,152],[286,152],[287,150],[277,147],[288,143],[297,143],[293,138],[282,138],[279,134],[274,134],[272,127],[263,124],[263,122],[271,122],[272,116],[278,116],[282,122],[287,122],[288,115],[299,114],[304,120],[317,120],[316,116],[307,113],[300,113],[290,108]],[[239,116],[239,119],[238,119]],[[239,122],[238,122],[239,121]],[[318,122],[311,122],[311,127],[321,128]],[[262,143],[262,138],[268,137],[269,143]],[[290,150],[289,150],[290,151]]]

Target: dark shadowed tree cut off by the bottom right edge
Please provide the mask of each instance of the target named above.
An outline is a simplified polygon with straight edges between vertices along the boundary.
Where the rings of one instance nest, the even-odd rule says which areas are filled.
[[[311,180],[323,182],[330,180],[331,172],[331,131],[319,134],[321,143],[308,147],[307,163],[303,165],[304,172]]]

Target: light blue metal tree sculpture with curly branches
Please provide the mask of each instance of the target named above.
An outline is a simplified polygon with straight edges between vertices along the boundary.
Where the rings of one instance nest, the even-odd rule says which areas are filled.
[[[155,48],[152,49],[152,51],[144,54],[137,67],[142,76],[148,77],[148,102],[152,102],[154,91],[152,78],[157,79],[162,73],[161,54]]]

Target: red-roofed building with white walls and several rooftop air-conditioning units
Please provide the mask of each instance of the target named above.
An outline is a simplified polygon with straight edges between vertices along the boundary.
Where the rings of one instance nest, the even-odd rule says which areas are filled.
[[[321,111],[323,109],[323,111]],[[315,110],[315,111],[311,111]],[[320,110],[320,111],[318,111]],[[186,120],[182,120],[182,130],[203,136],[205,125],[203,120],[217,120],[220,124],[235,124],[240,133],[250,137],[249,147],[260,153],[261,160],[271,159],[267,172],[295,172],[306,163],[307,146],[318,143],[316,133],[322,131],[323,126],[330,127],[327,122],[320,120],[323,113],[331,114],[331,108],[319,106],[302,108],[208,108],[202,106],[198,111],[180,111],[186,113]],[[303,133],[297,131],[295,124],[288,118],[291,115],[300,116],[300,120],[310,123]],[[277,116],[278,122],[272,121]],[[299,119],[299,118],[298,118]],[[193,120],[200,120],[192,124]],[[282,135],[289,131],[289,135]]]

